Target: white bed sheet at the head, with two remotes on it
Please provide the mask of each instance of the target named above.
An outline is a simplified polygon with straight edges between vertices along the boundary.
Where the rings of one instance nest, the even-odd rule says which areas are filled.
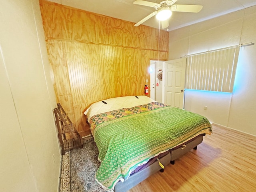
[[[102,101],[106,102],[107,104],[104,104]],[[91,106],[84,112],[84,114],[87,116],[87,121],[90,122],[90,118],[96,114],[122,108],[130,108],[151,102],[154,102],[154,100],[148,96],[143,95],[138,96],[138,98],[136,98],[136,96],[110,98],[91,104]]]

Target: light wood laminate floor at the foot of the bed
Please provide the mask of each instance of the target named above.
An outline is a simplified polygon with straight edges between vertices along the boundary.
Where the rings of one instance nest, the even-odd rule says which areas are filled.
[[[254,192],[256,137],[213,125],[197,150],[128,192]]]

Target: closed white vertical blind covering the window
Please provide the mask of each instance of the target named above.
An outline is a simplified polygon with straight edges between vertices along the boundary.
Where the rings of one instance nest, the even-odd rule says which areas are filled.
[[[240,47],[188,56],[186,88],[232,92]]]

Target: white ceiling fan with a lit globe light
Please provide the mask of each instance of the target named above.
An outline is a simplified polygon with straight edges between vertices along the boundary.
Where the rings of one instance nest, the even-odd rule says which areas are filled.
[[[168,18],[170,18],[173,11],[198,13],[203,8],[202,5],[176,5],[174,4],[176,1],[177,0],[165,0],[160,2],[160,4],[143,0],[134,1],[133,4],[154,7],[156,9],[156,11],[152,12],[151,14],[140,20],[134,26],[139,26],[146,20],[156,15],[156,18],[162,21],[162,28],[168,28]]]

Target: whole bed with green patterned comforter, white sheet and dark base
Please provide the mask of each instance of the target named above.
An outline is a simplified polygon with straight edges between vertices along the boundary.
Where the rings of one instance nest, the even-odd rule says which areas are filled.
[[[99,150],[95,179],[110,192],[125,192],[163,171],[212,133],[204,116],[147,96],[99,101],[84,114]]]

